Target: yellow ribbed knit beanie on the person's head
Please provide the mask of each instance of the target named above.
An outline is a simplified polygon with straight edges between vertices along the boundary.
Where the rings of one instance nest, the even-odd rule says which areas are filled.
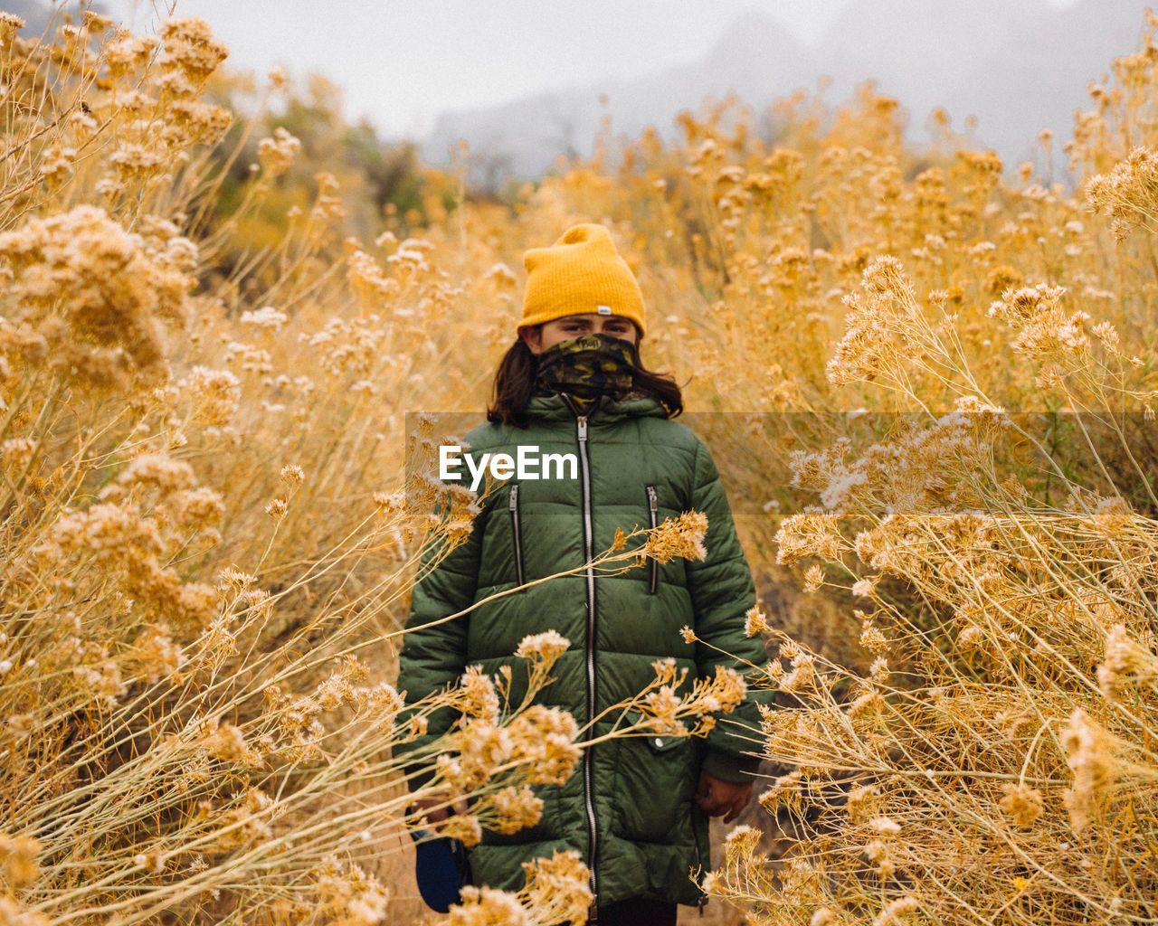
[[[520,330],[567,315],[618,315],[644,331],[644,297],[601,225],[577,225],[550,248],[523,257],[527,289]]]

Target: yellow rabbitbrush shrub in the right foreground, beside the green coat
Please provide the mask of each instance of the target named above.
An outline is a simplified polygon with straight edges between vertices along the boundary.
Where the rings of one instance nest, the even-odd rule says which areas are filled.
[[[780,872],[738,842],[716,882],[757,921],[1150,914],[1158,534],[1120,497],[1026,492],[995,461],[1040,438],[1025,421],[962,402],[852,458],[794,458],[823,501],[784,520],[782,559],[828,564],[818,586],[860,576],[873,662],[779,635],[791,706],[765,716],[765,755],[794,771],[761,802],[800,842]]]

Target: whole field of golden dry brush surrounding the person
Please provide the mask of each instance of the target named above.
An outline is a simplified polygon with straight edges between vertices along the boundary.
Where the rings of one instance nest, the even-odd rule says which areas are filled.
[[[689,420],[776,647],[752,748],[780,840],[733,833],[713,892],[753,923],[1155,918],[1149,34],[1092,87],[1072,185],[944,115],[916,150],[868,87],[765,134],[689,113],[510,205],[441,178],[420,232],[384,214],[371,242],[266,111],[223,141],[204,23],[0,27],[5,917],[411,916],[391,634],[471,502],[431,522],[404,413],[482,407],[521,252],[596,220],[648,366],[716,412]],[[439,784],[511,787],[479,815],[505,825],[515,742],[565,721],[505,716],[481,781],[491,685],[445,696],[479,722]],[[536,891],[457,916],[563,916]]]

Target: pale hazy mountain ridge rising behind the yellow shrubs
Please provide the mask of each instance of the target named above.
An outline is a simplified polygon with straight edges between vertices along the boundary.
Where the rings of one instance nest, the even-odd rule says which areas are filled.
[[[957,131],[975,116],[977,144],[1016,164],[1032,155],[1041,128],[1060,142],[1069,137],[1073,110],[1089,105],[1087,82],[1137,44],[1144,8],[1134,0],[1079,0],[1061,10],[1045,0],[858,0],[813,49],[752,13],[698,63],[444,113],[424,152],[445,161],[447,147],[466,138],[476,182],[532,176],[559,154],[589,153],[608,119],[616,134],[635,137],[646,125],[670,133],[675,113],[704,100],[735,91],[758,111],[797,88],[815,89],[824,75],[830,104],[875,80],[908,109],[917,142],[937,106]]]

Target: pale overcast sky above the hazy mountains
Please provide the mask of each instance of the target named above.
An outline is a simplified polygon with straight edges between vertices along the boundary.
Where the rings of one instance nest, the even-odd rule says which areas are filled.
[[[968,0],[955,0],[968,2]],[[417,137],[450,109],[631,78],[703,58],[746,10],[814,44],[852,0],[177,0],[204,16],[233,67],[325,74],[347,118]],[[1017,0],[1010,0],[1017,2]],[[1073,0],[1050,0],[1069,6]],[[105,0],[149,28],[173,0]]]

